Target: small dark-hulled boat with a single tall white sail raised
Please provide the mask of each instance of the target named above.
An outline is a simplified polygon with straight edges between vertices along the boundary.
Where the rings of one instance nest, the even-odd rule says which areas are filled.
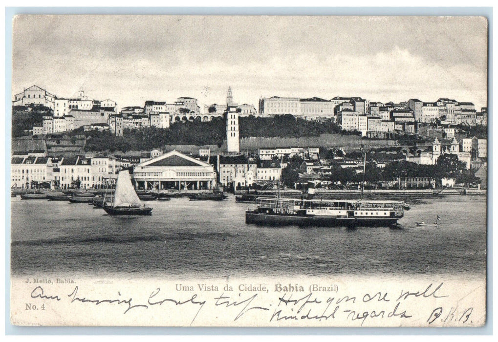
[[[104,200],[104,210],[109,215],[152,215],[152,208],[142,205],[138,195],[131,185],[129,173],[122,170],[118,174],[116,192],[112,205],[107,205]]]

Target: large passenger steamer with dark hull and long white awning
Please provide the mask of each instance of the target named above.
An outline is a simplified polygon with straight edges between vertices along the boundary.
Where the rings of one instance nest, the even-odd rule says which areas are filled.
[[[403,202],[260,198],[246,223],[265,226],[389,227],[404,215]]]

